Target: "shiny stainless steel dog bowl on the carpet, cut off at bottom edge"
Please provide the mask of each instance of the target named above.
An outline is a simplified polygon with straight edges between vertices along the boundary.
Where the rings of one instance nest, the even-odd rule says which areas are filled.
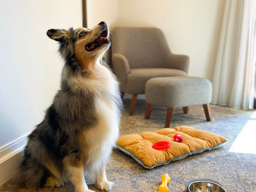
[[[226,192],[224,187],[217,181],[206,178],[198,178],[188,181],[186,188],[186,192]]]

